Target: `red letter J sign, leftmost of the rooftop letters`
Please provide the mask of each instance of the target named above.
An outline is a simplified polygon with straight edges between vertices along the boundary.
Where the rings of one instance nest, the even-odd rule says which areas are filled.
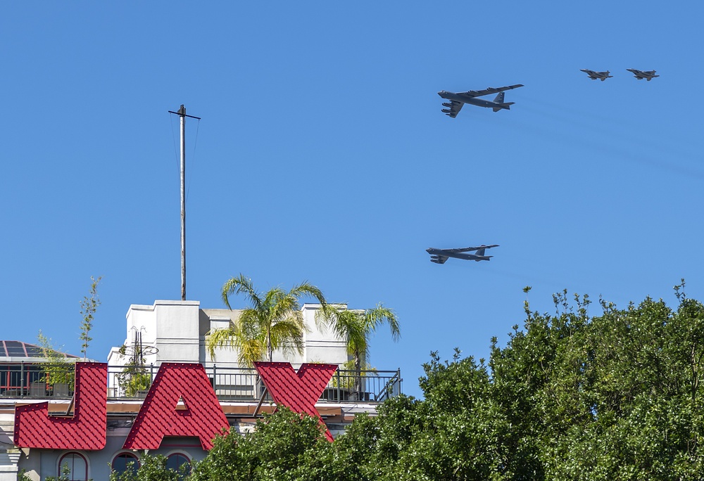
[[[15,446],[44,449],[105,447],[108,365],[77,362],[73,416],[49,416],[49,403],[15,407]]]

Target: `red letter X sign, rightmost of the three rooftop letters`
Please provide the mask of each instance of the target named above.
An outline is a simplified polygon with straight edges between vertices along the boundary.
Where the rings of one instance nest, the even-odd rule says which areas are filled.
[[[276,404],[283,404],[296,413],[314,416],[325,426],[315,403],[337,370],[335,364],[302,364],[298,373],[289,362],[256,362],[254,367]],[[325,436],[332,441],[327,426]]]

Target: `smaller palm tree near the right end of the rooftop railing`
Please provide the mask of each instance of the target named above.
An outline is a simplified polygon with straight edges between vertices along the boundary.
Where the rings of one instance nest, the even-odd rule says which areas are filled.
[[[344,339],[347,353],[351,355],[356,371],[361,371],[369,359],[369,337],[377,326],[389,323],[391,338],[401,338],[396,314],[391,309],[377,304],[374,309],[341,309],[339,304],[327,304],[320,315],[332,326],[334,333]]]

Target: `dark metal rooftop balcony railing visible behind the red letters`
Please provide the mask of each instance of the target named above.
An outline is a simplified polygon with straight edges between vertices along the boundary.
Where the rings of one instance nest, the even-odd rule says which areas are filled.
[[[108,366],[108,399],[137,400],[146,397],[158,366]],[[215,395],[226,402],[258,402],[265,386],[254,369],[206,366]],[[69,398],[73,396],[71,364],[0,364],[0,399]],[[401,371],[350,371],[338,369],[320,397],[321,402],[384,402],[401,394]]]

